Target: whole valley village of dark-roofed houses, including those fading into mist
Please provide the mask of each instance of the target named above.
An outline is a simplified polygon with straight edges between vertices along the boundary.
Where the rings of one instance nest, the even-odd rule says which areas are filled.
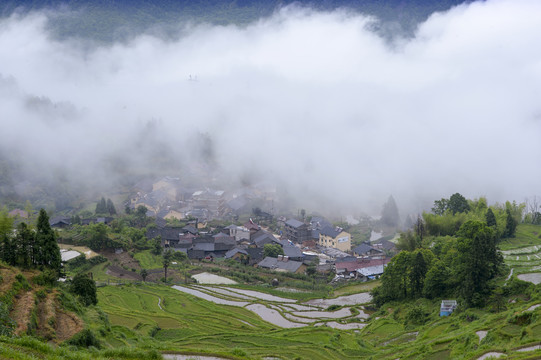
[[[396,252],[395,244],[375,231],[360,241],[325,217],[306,216],[304,210],[297,217],[275,215],[254,205],[271,207],[273,196],[269,186],[228,194],[186,188],[178,178],[164,177],[136,184],[125,205],[132,212],[144,207],[146,216],[154,219],[155,226],[146,231],[148,240],[160,241],[163,249],[182,252],[191,261],[233,259],[297,274],[308,268],[321,274],[333,272],[333,281],[366,281],[379,277]],[[112,220],[96,217],[83,219],[82,224]],[[63,228],[71,221],[58,216],[51,218],[50,225]],[[273,249],[269,245],[274,250],[269,251]]]

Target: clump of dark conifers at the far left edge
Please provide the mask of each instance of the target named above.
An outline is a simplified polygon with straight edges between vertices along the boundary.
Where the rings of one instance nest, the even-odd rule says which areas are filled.
[[[24,222],[13,231],[13,219],[0,211],[0,259],[25,269],[51,269],[60,274],[62,258],[49,216],[40,210],[35,228]]]

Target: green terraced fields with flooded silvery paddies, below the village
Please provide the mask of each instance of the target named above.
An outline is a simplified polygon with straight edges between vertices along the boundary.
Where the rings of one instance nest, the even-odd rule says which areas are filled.
[[[516,298],[500,313],[475,309],[448,318],[439,304],[424,301],[427,322],[404,321],[408,304],[370,311],[366,293],[297,301],[233,286],[106,286],[100,307],[113,328],[163,353],[213,355],[230,359],[478,359],[491,352],[533,359],[541,341],[539,298]],[[362,297],[365,297],[362,300]],[[328,306],[333,306],[331,311]],[[517,314],[531,315],[524,323]],[[481,336],[482,334],[483,336]],[[150,337],[149,337],[150,335]],[[113,343],[111,342],[111,345]]]

